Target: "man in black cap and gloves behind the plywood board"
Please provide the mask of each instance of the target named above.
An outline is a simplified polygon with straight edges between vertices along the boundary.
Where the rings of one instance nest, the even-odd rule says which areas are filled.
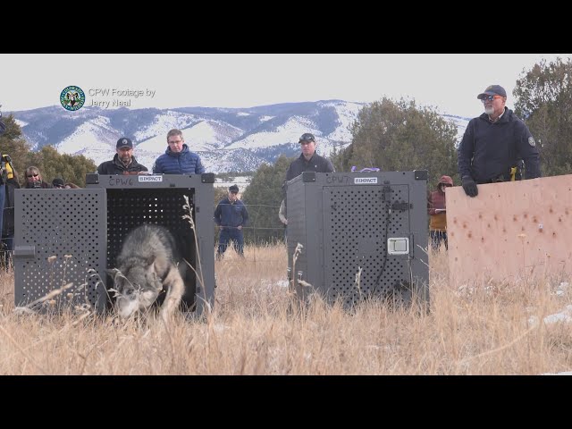
[[[507,106],[507,91],[490,85],[476,96],[484,114],[468,122],[458,146],[458,172],[469,197],[478,195],[477,184],[514,181],[521,161],[526,179],[541,176],[540,155],[525,122]]]

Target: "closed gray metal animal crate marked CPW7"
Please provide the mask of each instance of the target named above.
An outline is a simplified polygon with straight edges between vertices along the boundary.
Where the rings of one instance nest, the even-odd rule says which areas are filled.
[[[288,272],[302,299],[429,303],[427,172],[304,172],[287,183]],[[294,261],[298,245],[302,245]]]

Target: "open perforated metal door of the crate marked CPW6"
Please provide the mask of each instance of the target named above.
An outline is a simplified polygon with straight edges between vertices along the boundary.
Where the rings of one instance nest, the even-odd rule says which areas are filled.
[[[46,301],[45,308],[59,311],[63,306],[103,305],[105,287],[100,275],[105,269],[105,247],[98,240],[105,235],[103,192],[22,189],[16,198],[21,198],[15,213],[21,220],[16,244],[35,248],[33,258],[14,257],[16,306],[68,283],[73,286]],[[95,274],[90,275],[90,269]]]

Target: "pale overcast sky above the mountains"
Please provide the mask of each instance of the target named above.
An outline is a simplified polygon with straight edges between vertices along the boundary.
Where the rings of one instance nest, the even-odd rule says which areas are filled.
[[[59,105],[75,85],[92,101],[130,100],[130,108],[250,107],[341,99],[372,102],[383,96],[415,99],[443,114],[482,113],[476,95],[491,84],[509,94],[523,70],[571,54],[0,54],[2,110]],[[97,89],[109,89],[108,96]],[[155,91],[155,96],[113,95]],[[150,92],[149,92],[150,94]]]

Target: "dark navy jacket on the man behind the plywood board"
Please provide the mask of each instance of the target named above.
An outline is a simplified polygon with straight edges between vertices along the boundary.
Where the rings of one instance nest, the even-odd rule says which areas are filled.
[[[497,122],[488,114],[468,122],[458,145],[458,173],[477,183],[488,183],[499,176],[509,181],[510,167],[525,161],[526,179],[541,176],[540,156],[530,130],[516,114],[505,107]]]

